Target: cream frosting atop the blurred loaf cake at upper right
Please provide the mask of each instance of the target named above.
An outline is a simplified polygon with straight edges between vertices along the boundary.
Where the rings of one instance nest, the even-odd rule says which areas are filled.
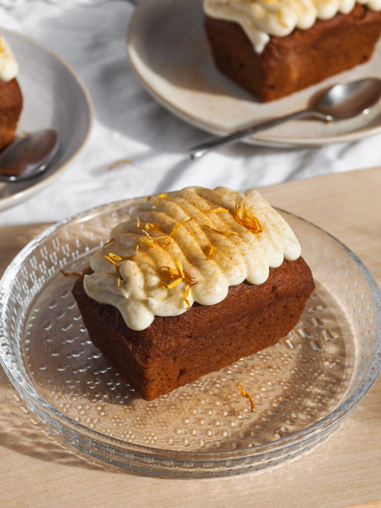
[[[310,28],[316,19],[348,14],[356,3],[381,10],[381,0],[204,0],[204,11],[212,18],[238,23],[261,53],[270,36],[287,36],[294,28]]]

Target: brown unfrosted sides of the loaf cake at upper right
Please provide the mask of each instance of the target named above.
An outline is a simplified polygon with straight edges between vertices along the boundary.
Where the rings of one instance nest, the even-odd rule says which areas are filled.
[[[206,17],[204,27],[218,69],[267,102],[369,60],[381,34],[381,12],[357,4],[349,14],[271,37],[262,53],[236,23]]]

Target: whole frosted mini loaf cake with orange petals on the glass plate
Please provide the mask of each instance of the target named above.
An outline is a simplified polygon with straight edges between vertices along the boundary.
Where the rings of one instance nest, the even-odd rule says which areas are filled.
[[[152,400],[275,344],[313,289],[293,231],[255,190],[187,187],[116,226],[73,294],[92,342]]]

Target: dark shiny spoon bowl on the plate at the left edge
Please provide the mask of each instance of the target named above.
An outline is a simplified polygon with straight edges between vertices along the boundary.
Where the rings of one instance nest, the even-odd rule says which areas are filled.
[[[52,162],[58,148],[58,134],[53,129],[14,141],[0,154],[0,181],[19,182],[39,175]]]

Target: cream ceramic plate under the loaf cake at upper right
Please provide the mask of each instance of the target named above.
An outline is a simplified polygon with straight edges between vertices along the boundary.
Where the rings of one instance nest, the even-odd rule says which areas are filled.
[[[381,43],[373,58],[301,92],[268,104],[214,67],[203,31],[202,0],[141,0],[128,33],[128,53],[143,85],[172,113],[212,134],[306,107],[314,93],[331,84],[381,75]],[[361,139],[381,132],[381,102],[368,115],[325,124],[295,120],[257,134],[251,143],[321,145]]]

